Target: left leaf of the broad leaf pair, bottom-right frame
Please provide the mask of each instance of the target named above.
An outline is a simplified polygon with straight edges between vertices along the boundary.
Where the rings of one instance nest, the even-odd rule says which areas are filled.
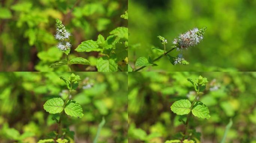
[[[189,114],[191,107],[191,102],[188,99],[181,99],[171,105],[171,111],[177,115]]]

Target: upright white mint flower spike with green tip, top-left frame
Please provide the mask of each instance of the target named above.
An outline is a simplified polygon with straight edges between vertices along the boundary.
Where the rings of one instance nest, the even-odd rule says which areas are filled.
[[[70,32],[66,31],[65,26],[62,24],[61,20],[56,19],[57,33],[54,35],[55,39],[59,40],[57,47],[61,51],[66,51],[71,48],[71,44],[65,40],[68,40],[71,36]]]

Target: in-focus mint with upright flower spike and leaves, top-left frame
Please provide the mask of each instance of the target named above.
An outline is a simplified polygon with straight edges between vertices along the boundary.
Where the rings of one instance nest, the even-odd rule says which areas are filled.
[[[121,18],[128,19],[128,11],[126,11]],[[90,65],[89,60],[83,57],[68,58],[70,54],[71,44],[69,36],[70,32],[65,29],[61,20],[56,19],[57,33],[54,35],[59,42],[57,48],[65,53],[66,59],[52,63],[51,68],[60,66],[68,66],[71,71],[72,64]],[[74,50],[77,52],[98,52],[96,68],[98,71],[127,71],[128,70],[128,28],[117,27],[109,32],[109,36],[105,39],[103,35],[99,34],[96,41],[86,40],[81,42]]]

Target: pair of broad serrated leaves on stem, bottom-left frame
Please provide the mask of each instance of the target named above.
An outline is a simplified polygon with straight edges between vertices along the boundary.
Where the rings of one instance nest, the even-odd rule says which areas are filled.
[[[65,113],[71,117],[83,117],[83,109],[81,105],[75,101],[68,101],[67,105],[64,107],[64,101],[61,98],[52,98],[45,102],[43,108],[50,114],[60,113],[64,109]]]

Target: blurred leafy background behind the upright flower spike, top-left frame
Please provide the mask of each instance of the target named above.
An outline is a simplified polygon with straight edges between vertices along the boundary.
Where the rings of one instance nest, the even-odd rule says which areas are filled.
[[[127,0],[1,0],[0,71],[53,71],[49,65],[64,58],[54,39],[56,18],[71,32],[70,59],[79,56],[91,63],[72,68],[95,71],[99,53],[74,49],[82,41],[96,41],[99,34],[106,38],[118,26],[127,27],[120,18],[127,9]],[[67,71],[67,66],[56,70]]]

